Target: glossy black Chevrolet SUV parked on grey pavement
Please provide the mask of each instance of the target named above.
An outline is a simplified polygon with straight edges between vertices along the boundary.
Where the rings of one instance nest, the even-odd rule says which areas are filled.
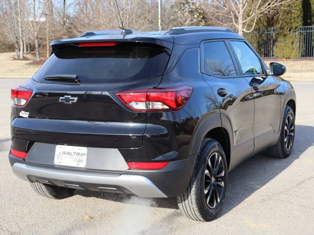
[[[176,196],[187,217],[209,221],[237,164],[292,151],[286,68],[269,70],[228,28],[86,32],[51,48],[11,92],[10,164],[43,196]]]

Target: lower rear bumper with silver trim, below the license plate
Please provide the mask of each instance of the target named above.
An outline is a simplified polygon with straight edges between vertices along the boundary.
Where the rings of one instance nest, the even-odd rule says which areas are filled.
[[[139,197],[174,197],[184,193],[195,156],[173,161],[160,170],[105,171],[31,164],[9,154],[13,172],[28,182],[61,187],[131,193]]]

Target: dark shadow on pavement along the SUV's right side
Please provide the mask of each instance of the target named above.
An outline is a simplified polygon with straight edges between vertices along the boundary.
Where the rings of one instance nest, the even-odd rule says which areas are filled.
[[[271,158],[264,150],[239,164],[228,174],[225,203],[218,218],[265,186],[314,145],[314,126],[296,125],[295,128],[294,146],[288,158]]]

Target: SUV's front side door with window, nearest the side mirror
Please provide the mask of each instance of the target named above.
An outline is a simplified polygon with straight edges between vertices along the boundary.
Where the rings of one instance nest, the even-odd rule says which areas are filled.
[[[276,138],[279,130],[281,98],[277,91],[279,84],[268,76],[261,58],[245,41],[230,41],[240,72],[253,90],[255,114],[253,131],[255,152],[261,150]]]

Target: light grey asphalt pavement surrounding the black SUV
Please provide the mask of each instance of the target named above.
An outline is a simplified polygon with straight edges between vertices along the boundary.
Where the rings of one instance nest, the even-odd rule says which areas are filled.
[[[287,159],[262,152],[228,175],[223,210],[211,222],[185,218],[175,198],[77,190],[65,200],[38,196],[11,170],[10,88],[0,79],[0,234],[314,234],[314,83],[292,83],[296,139]],[[166,179],[165,179],[166,180]]]

